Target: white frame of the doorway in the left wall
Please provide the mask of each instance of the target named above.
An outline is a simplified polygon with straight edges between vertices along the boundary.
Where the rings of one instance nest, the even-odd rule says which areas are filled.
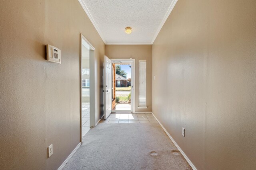
[[[79,75],[80,75],[80,142],[83,143],[82,134],[82,41],[86,41],[89,45],[89,63],[90,63],[90,127],[95,127],[95,48],[93,45],[80,34],[80,64],[79,64]]]

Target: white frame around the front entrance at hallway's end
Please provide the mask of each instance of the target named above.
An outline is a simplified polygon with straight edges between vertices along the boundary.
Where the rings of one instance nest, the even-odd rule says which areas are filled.
[[[132,111],[129,112],[129,111],[122,111],[122,110],[119,110],[119,111],[113,111],[112,110],[112,107],[111,107],[111,113],[134,113],[135,112],[135,59],[110,59],[111,63],[112,61],[128,61],[128,62],[131,62],[132,61]],[[113,72],[113,69],[111,67],[111,72]],[[113,81],[111,81],[111,84],[113,86]],[[111,94],[112,94],[112,90],[111,90]]]

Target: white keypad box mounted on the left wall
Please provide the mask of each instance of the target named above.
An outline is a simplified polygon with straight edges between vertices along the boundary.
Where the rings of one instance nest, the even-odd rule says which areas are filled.
[[[54,63],[61,63],[60,49],[47,44],[46,53],[47,53],[47,57],[46,57],[47,61],[51,61]]]

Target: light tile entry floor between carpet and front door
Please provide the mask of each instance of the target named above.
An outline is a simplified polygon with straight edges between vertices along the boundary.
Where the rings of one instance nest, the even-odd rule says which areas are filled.
[[[152,113],[111,113],[108,119],[102,118],[100,123],[158,123]]]

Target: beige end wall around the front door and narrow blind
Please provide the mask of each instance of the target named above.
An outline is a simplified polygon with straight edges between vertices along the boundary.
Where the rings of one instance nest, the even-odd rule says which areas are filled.
[[[105,55],[109,59],[135,59],[135,111],[151,111],[152,45],[106,45]],[[138,109],[139,60],[147,61],[147,109]]]

